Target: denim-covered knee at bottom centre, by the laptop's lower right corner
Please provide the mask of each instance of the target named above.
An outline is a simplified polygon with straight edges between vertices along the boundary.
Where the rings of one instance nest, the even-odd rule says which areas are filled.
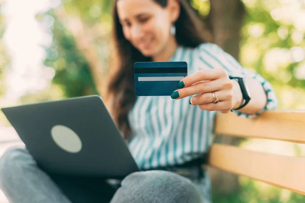
[[[123,180],[118,193],[126,200],[118,202],[202,202],[201,194],[189,179],[167,171],[133,173]]]

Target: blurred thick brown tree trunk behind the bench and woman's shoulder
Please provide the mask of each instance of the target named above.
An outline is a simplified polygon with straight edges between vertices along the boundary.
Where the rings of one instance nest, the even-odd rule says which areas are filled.
[[[240,29],[245,15],[245,8],[240,0],[210,0],[210,26],[213,43],[235,59],[239,58]],[[216,137],[216,142],[236,145],[238,138]],[[238,176],[216,168],[208,167],[212,185],[222,194],[238,191]]]

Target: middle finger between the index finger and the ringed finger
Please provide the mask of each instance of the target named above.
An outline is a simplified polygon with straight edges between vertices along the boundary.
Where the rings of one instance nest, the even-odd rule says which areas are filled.
[[[222,89],[232,89],[233,83],[230,79],[219,79],[206,82],[199,82],[189,87],[178,89],[179,98],[184,98],[194,94],[200,94]]]

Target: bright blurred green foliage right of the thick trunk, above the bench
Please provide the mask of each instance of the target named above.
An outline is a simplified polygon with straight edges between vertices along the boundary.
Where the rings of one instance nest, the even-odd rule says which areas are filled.
[[[246,5],[247,16],[241,29],[241,64],[255,70],[271,82],[279,96],[279,109],[302,108],[302,99],[298,102],[294,97],[285,102],[284,98],[287,98],[287,92],[291,92],[292,89],[297,90],[295,95],[299,95],[300,98],[305,96],[305,91],[301,90],[305,87],[305,80],[298,74],[299,68],[304,66],[304,60],[297,60],[294,56],[302,54],[301,49],[304,50],[305,41],[298,41],[295,37],[302,37],[304,30],[298,29],[293,21],[288,22],[287,18],[277,19],[279,17],[275,15],[279,9],[282,9],[280,15],[287,15],[289,7],[297,4],[296,1],[290,4],[283,1],[274,1],[271,4],[270,1],[262,0],[243,2]],[[296,13],[304,11],[296,8]]]

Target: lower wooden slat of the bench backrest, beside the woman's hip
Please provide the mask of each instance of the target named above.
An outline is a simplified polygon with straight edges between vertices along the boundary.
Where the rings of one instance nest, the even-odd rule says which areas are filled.
[[[305,194],[305,158],[214,144],[211,147],[209,164],[234,174]]]

